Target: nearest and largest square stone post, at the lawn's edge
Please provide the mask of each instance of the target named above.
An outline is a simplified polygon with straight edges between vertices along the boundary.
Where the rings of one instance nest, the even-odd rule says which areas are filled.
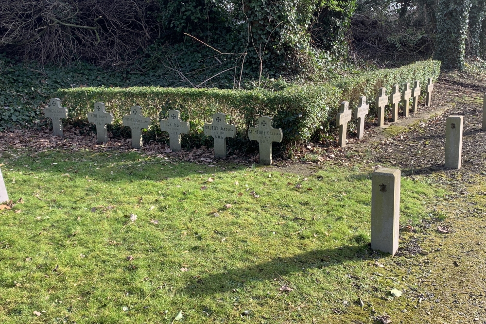
[[[371,187],[371,248],[393,256],[399,239],[400,170],[378,169]]]

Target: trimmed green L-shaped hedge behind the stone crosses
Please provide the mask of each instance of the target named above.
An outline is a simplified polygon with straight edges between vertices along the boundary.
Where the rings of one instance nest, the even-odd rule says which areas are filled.
[[[423,61],[401,68],[359,73],[327,84],[292,85],[280,91],[79,87],[59,89],[57,96],[63,106],[69,108],[72,119],[86,119],[95,102],[104,102],[106,110],[113,113],[115,124],[121,123],[122,116],[129,113],[132,105],[139,105],[144,115],[153,119],[155,129],[169,109],[179,109],[181,119],[191,122],[192,136],[200,136],[204,122],[215,112],[227,114],[243,132],[242,138],[258,117],[270,116],[274,118],[274,127],[282,128],[283,143],[289,147],[308,141],[319,128],[332,129],[341,101],[347,100],[350,107],[354,107],[360,96],[366,96],[372,118],[376,116],[374,102],[380,87],[386,87],[390,94],[395,84],[399,84],[401,90],[404,83],[420,80],[424,93],[427,79],[432,77],[435,81],[439,72],[439,61]]]

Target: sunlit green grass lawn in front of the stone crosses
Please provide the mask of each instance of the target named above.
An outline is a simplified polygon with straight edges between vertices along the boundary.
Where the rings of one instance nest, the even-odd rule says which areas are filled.
[[[185,323],[337,323],[401,288],[370,266],[390,258],[368,245],[371,165],[305,175],[68,151],[1,162],[23,201],[0,211],[3,324],[172,323],[179,311]],[[444,194],[425,179],[402,179],[402,223]]]

